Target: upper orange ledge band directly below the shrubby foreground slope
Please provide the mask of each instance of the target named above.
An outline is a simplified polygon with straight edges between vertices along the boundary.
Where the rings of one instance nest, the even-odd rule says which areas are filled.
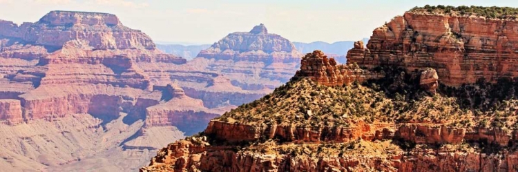
[[[249,125],[211,121],[204,131],[207,135],[227,142],[256,142],[260,139],[278,139],[282,142],[350,142],[352,140],[405,140],[415,144],[462,144],[463,142],[487,142],[508,146],[518,142],[518,131],[498,128],[453,128],[445,124],[365,124],[350,127],[290,125]]]

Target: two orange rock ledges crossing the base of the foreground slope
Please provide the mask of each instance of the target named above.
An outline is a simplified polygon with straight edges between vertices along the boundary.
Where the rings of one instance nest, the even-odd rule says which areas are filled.
[[[487,140],[507,146],[518,135],[484,128],[448,128],[441,124],[358,124],[350,128],[297,128],[294,126],[247,126],[211,122],[205,131],[230,142],[250,142],[260,136],[294,143],[349,142],[352,140],[405,140],[416,144],[461,144]],[[512,132],[512,133],[517,133]],[[509,171],[515,169],[517,152],[486,155],[477,152],[448,152],[440,149],[392,152],[379,155],[340,157],[292,157],[268,153],[236,153],[227,146],[208,146],[204,137],[169,144],[148,167],[140,171]],[[298,141],[298,142],[297,142]],[[174,164],[174,165],[168,165]],[[431,166],[431,167],[430,167]]]

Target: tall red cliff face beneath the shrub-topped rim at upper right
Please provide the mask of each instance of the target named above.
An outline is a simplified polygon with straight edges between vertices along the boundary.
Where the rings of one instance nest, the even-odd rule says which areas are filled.
[[[459,86],[477,79],[496,82],[517,77],[515,48],[518,21],[474,15],[405,12],[376,28],[367,48],[347,53],[347,64],[368,68],[402,66],[409,70],[431,67],[441,83]]]

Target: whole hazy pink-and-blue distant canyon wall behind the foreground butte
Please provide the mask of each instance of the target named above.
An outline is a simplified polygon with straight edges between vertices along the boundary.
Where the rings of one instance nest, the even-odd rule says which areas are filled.
[[[111,14],[0,20],[0,166],[136,170],[156,149],[287,82],[301,56],[262,25],[187,62]]]

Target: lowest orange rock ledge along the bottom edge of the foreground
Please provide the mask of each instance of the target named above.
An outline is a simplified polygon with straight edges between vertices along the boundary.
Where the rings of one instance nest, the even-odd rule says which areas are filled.
[[[321,147],[300,146],[303,155],[294,156],[253,151],[236,153],[205,144],[207,142],[200,140],[169,144],[150,164],[155,169],[143,168],[141,171],[515,171],[517,163],[514,159],[517,153],[486,155],[459,152],[456,148],[403,151],[387,142],[362,141],[352,144],[358,151],[344,149],[343,155],[318,156],[314,151]],[[276,149],[275,146],[271,148]]]

